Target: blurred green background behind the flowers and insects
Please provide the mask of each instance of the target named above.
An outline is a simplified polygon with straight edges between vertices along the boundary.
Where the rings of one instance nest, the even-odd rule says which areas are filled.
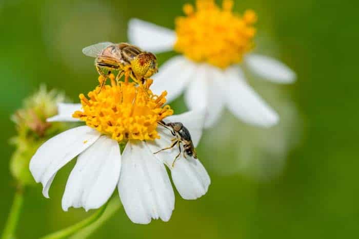
[[[0,227],[14,193],[9,157],[15,134],[10,114],[45,82],[77,101],[96,84],[93,59],[81,49],[126,41],[137,17],[168,28],[193,1],[0,1]],[[235,11],[258,14],[257,52],[298,75],[292,85],[250,78],[280,114],[281,124],[257,129],[224,113],[205,132],[198,155],[212,179],[196,201],[176,193],[168,223],[133,224],[123,210],[91,238],[355,238],[359,234],[356,1],[236,1]],[[162,63],[174,53],[159,54]],[[181,99],[172,106],[186,109]],[[233,130],[231,130],[233,129]],[[228,132],[228,134],[223,134]],[[225,143],[224,143],[225,142]],[[269,144],[270,143],[270,144]],[[278,147],[278,150],[272,150]],[[18,238],[36,238],[86,218],[63,212],[61,197],[74,162],[57,174],[45,199],[41,185],[26,191]],[[116,197],[118,197],[116,195]]]

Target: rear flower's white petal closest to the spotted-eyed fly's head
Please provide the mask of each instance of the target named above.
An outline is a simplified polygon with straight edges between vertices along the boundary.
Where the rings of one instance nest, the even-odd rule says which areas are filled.
[[[193,76],[195,64],[183,56],[175,56],[169,59],[158,73],[153,76],[151,90],[160,95],[167,91],[167,102],[171,102],[183,92],[191,76]]]

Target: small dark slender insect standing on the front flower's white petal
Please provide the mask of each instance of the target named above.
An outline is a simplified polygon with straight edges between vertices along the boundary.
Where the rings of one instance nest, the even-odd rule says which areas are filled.
[[[164,126],[167,128],[175,138],[172,139],[171,146],[167,148],[163,148],[153,154],[158,154],[161,151],[168,150],[173,148],[174,146],[178,145],[178,155],[175,157],[172,163],[172,167],[174,166],[175,161],[182,153],[182,146],[183,146],[183,157],[186,158],[186,155],[197,158],[196,149],[194,148],[191,134],[189,133],[188,129],[183,125],[181,122],[173,122],[173,123],[166,123],[164,121],[159,121],[159,125]]]

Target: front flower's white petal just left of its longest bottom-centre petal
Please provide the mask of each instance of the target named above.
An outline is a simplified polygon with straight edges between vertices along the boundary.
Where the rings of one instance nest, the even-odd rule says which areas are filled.
[[[121,153],[118,142],[101,136],[81,153],[67,180],[62,207],[101,207],[111,197],[118,183]]]

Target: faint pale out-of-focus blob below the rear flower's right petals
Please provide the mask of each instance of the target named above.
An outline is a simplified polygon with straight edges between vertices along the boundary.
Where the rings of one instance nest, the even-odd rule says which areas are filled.
[[[281,121],[262,129],[238,123],[229,112],[225,112],[223,120],[203,137],[202,145],[213,150],[210,155],[204,152],[202,156],[221,156],[220,162],[206,162],[206,167],[219,175],[240,173],[252,180],[268,181],[281,175],[290,151],[301,142],[303,122],[295,104],[282,89],[252,82],[278,110]],[[236,146],[229,148],[233,142]]]

